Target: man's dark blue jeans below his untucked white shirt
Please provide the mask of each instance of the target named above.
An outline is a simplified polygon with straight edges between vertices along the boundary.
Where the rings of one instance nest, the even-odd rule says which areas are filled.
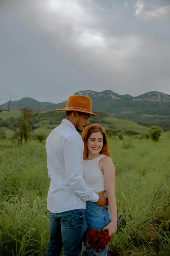
[[[50,240],[46,256],[80,256],[81,244],[87,229],[85,209],[50,214]]]

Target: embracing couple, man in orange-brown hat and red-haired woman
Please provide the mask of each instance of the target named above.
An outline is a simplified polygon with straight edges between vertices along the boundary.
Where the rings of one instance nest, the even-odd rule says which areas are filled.
[[[64,256],[91,256],[96,252],[87,244],[90,229],[108,229],[110,236],[116,232],[115,168],[104,128],[89,125],[91,115],[99,117],[92,113],[91,99],[70,96],[66,107],[58,110],[66,111],[66,118],[46,141],[51,179],[46,256],[58,256],[62,248]],[[106,256],[107,246],[96,255]]]

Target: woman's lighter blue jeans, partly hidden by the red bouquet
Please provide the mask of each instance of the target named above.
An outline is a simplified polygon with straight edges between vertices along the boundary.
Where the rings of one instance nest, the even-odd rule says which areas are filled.
[[[109,209],[109,206],[107,206]],[[98,206],[96,203],[87,201],[86,202],[86,221],[88,225],[88,229],[84,235],[83,243],[82,243],[82,256],[93,256],[93,254],[96,254],[97,256],[107,255],[107,246],[106,249],[101,253],[96,253],[95,250],[93,250],[89,245],[86,245],[87,243],[87,234],[90,229],[103,229],[106,227],[111,220],[111,214],[110,210],[106,210],[105,208]],[[87,252],[88,250],[91,250],[91,252]]]

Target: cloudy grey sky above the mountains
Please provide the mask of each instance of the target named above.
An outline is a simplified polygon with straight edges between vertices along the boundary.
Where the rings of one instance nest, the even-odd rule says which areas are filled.
[[[0,37],[1,96],[170,94],[170,0],[0,0]]]

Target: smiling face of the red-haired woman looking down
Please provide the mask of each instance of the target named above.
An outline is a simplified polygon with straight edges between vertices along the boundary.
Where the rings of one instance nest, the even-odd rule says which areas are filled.
[[[97,155],[103,148],[103,135],[101,132],[92,133],[87,140],[88,151],[92,155]]]

